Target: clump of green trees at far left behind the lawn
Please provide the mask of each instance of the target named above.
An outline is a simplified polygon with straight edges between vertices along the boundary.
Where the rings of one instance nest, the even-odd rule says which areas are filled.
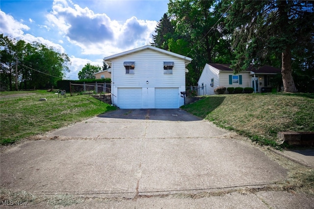
[[[26,43],[0,34],[1,86],[9,90],[50,88],[69,72],[70,58],[44,44]],[[16,65],[18,59],[18,65]],[[16,68],[17,67],[17,68]],[[15,70],[17,69],[17,71]]]

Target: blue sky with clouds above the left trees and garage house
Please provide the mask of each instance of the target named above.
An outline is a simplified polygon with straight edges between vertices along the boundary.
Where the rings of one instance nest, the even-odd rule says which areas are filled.
[[[0,0],[0,33],[71,58],[68,79],[105,56],[152,42],[168,0]]]

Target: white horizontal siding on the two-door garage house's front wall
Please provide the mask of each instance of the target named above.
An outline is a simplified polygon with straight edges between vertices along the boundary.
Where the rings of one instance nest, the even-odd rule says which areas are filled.
[[[134,74],[126,74],[123,63],[134,61]],[[163,62],[174,62],[172,74],[163,74]],[[184,60],[150,49],[140,52],[126,54],[111,60],[111,76],[113,104],[119,106],[118,88],[143,88],[143,108],[155,108],[155,88],[172,87],[178,88],[179,106],[184,100],[180,97],[180,92],[185,91],[185,64]],[[148,81],[148,84],[146,83]],[[154,92],[154,93],[153,93]]]

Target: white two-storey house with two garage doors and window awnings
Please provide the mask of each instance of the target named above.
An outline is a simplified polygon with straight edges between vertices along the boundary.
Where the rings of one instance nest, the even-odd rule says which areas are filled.
[[[191,58],[143,46],[104,58],[111,71],[112,103],[122,109],[179,108]]]

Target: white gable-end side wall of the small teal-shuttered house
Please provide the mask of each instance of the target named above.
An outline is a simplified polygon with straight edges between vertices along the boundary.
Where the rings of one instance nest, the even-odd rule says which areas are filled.
[[[198,89],[199,96],[214,94],[214,89],[219,86],[218,74],[218,69],[210,66],[209,64],[205,65],[201,77],[198,80],[198,86],[200,87]],[[210,86],[211,78],[214,79],[213,86]],[[204,84],[204,87],[202,87],[202,84]]]

